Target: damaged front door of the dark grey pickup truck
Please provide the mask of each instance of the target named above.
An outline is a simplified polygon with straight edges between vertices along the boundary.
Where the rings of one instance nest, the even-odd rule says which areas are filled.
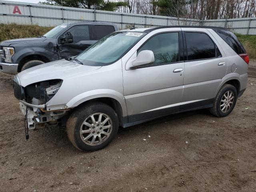
[[[70,27],[58,38],[58,54],[60,59],[78,55],[80,52],[94,44],[97,40],[90,40],[88,25]],[[65,36],[72,35],[72,42],[65,42]],[[62,40],[63,38],[63,40]]]

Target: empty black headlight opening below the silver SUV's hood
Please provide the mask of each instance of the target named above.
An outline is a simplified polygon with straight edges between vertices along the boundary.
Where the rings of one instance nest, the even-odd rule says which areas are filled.
[[[27,102],[32,101],[32,98],[36,98],[42,103],[48,102],[58,92],[61,84],[61,79],[53,79],[26,86],[25,95]]]

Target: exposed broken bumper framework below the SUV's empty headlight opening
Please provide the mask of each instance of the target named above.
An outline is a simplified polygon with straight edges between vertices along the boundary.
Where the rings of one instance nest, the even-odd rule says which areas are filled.
[[[62,109],[61,109],[62,108]],[[52,109],[52,110],[51,110]],[[58,109],[58,110],[53,110]],[[34,105],[20,100],[20,110],[26,116],[29,129],[43,128],[45,124],[58,125],[58,119],[66,115],[69,110],[65,106],[46,107],[45,104]]]

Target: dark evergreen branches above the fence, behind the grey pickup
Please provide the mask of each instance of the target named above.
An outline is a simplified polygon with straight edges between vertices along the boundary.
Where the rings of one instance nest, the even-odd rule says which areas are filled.
[[[119,6],[128,6],[127,2],[110,2],[104,0],[46,0],[39,2],[46,5],[58,5],[75,8],[115,11]]]

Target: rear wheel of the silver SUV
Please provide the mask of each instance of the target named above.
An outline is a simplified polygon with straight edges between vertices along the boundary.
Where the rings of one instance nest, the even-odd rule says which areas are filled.
[[[218,92],[210,113],[217,117],[226,117],[236,105],[237,90],[233,85],[225,84]]]

